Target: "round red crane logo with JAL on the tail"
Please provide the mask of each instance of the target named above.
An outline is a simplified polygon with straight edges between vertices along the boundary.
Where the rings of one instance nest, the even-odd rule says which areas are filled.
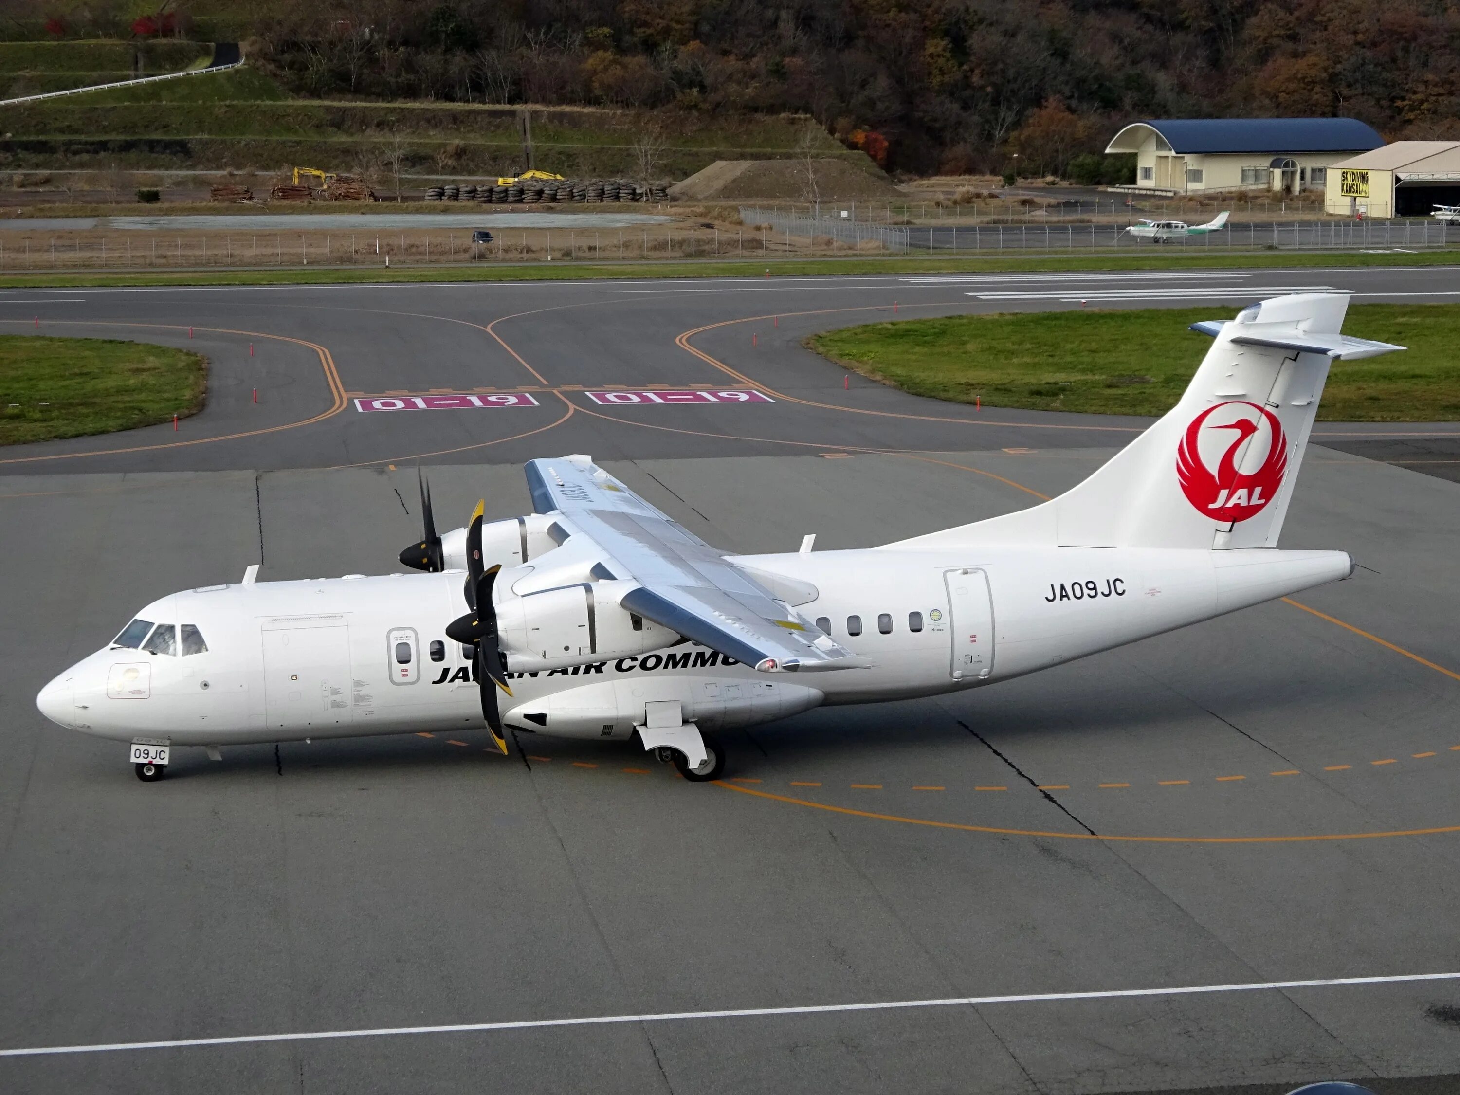
[[[1209,420],[1213,415],[1216,422]],[[1215,472],[1202,456],[1202,439],[1212,437],[1212,431],[1235,434],[1226,442]],[[1254,434],[1266,437],[1253,438]],[[1261,467],[1256,472],[1238,472],[1238,460],[1248,456],[1251,445],[1263,441],[1267,444],[1267,456],[1263,457]],[[1207,451],[1215,453],[1216,447],[1209,445]],[[1250,458],[1242,463],[1251,466]],[[1276,496],[1286,470],[1288,438],[1282,432],[1282,422],[1266,407],[1242,400],[1218,403],[1203,410],[1187,426],[1177,448],[1177,477],[1183,493],[1197,512],[1218,521],[1245,521],[1260,514]]]

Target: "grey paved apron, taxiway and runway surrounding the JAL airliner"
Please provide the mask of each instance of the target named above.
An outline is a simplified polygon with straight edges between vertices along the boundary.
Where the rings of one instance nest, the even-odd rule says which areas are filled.
[[[418,463],[442,521],[588,453],[727,550],[831,549],[1023,508],[1145,425],[844,381],[816,330],[1460,299],[1456,270],[1226,273],[0,293],[0,330],[213,362],[175,434],[0,456],[0,1088],[1444,1091],[1460,486],[1399,461],[1454,460],[1454,423],[1315,428],[1283,546],[1350,581],[726,734],[726,785],[485,731],[180,750],[145,785],[34,708],[174,588],[396,568]]]

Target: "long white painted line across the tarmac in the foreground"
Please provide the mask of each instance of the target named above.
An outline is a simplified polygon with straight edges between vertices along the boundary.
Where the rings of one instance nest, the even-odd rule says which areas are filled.
[[[0,1057],[47,1057],[69,1053],[120,1053],[124,1050],[184,1050],[204,1045],[253,1045],[263,1042],[307,1042],[331,1038],[387,1038],[406,1034],[480,1034],[485,1031],[534,1031],[549,1026],[609,1026],[616,1023],[686,1022],[695,1019],[765,1019],[790,1015],[826,1015],[831,1012],[894,1012],[910,1007],[983,1007],[1007,1003],[1061,1003],[1070,1000],[1123,1000],[1149,996],[1202,996],[1206,993],[1259,993],[1291,988],[1333,988],[1364,984],[1410,984],[1416,981],[1456,981],[1453,974],[1397,974],[1394,977],[1330,977],[1308,981],[1254,981],[1247,984],[1204,984],[1180,988],[1113,988],[1094,993],[1028,993],[1023,996],[959,996],[942,1000],[888,1000],[879,1003],[809,1004],[806,1007],[737,1007],[718,1012],[654,1012],[648,1015],[593,1015],[572,1019],[517,1019],[495,1023],[447,1023],[441,1026],[378,1026],[361,1031],[307,1031],[299,1034],[241,1034],[226,1038],[177,1038],[152,1042],[110,1042],[96,1045],[44,1045],[0,1050]]]

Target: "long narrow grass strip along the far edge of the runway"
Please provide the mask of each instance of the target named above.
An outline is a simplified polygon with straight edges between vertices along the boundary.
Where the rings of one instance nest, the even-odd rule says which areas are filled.
[[[396,231],[396,229],[391,229]],[[356,285],[418,282],[574,282],[661,277],[816,277],[851,274],[1040,273],[1057,270],[1269,270],[1429,267],[1460,264],[1460,250],[1418,254],[1330,251],[1152,256],[1037,256],[1029,258],[762,258],[647,263],[533,261],[473,266],[298,266],[244,270],[36,272],[0,274],[0,286],[82,288],[108,285]]]

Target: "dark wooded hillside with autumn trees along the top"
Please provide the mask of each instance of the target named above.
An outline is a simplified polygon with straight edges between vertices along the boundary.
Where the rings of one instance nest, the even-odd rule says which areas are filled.
[[[31,7],[0,31],[140,23],[126,0]],[[1460,136],[1445,0],[184,0],[147,18],[155,35],[245,41],[299,96],[804,112],[914,174],[1018,162],[1096,181],[1095,153],[1140,117]]]

